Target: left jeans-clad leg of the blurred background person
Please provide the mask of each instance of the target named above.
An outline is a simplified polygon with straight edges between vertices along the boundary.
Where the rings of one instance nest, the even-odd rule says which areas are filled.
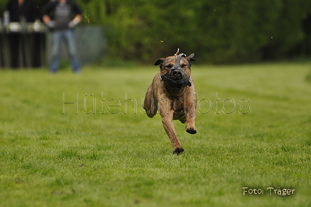
[[[60,31],[53,32],[52,51],[50,60],[50,72],[56,73],[60,63],[60,52],[62,43],[62,33]]]

